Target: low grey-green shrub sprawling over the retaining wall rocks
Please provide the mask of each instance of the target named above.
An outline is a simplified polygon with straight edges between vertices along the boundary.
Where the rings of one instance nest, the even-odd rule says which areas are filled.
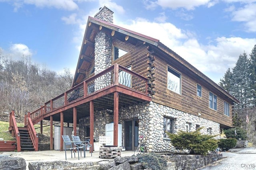
[[[139,162],[145,169],[161,170],[167,167],[166,159],[155,153],[137,154]]]

